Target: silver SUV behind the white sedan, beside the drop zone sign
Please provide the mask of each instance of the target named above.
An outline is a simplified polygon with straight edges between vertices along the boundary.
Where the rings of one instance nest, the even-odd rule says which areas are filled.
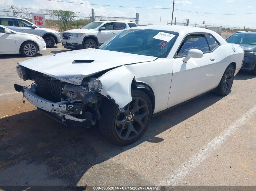
[[[45,40],[46,48],[52,48],[55,44],[61,43],[61,33],[57,30],[39,28],[22,18],[0,16],[0,25],[17,32],[38,35]]]

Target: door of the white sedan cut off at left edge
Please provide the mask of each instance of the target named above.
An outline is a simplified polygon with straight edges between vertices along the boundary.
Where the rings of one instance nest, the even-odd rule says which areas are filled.
[[[12,33],[5,33],[5,29],[0,27],[0,53],[14,53],[16,52],[16,41]]]

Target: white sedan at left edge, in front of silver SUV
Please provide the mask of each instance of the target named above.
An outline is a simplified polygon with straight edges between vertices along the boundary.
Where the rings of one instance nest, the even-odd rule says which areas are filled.
[[[34,34],[19,33],[0,25],[0,54],[36,56],[46,50],[45,40]]]

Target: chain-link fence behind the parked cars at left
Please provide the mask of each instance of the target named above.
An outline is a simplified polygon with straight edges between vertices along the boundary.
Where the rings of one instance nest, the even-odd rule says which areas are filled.
[[[85,26],[91,21],[99,20],[129,20],[135,21],[133,17],[120,16],[104,16],[94,14],[83,14],[80,12],[63,11],[63,10],[48,10],[48,9],[28,9],[10,7],[0,10],[0,16],[9,16],[23,18],[32,22],[32,14],[45,14],[45,27],[48,29],[64,32],[65,30],[77,29]],[[93,18],[92,18],[93,15]]]

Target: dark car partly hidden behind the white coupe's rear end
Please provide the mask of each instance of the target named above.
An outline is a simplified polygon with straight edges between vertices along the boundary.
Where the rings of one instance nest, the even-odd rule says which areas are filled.
[[[226,41],[239,44],[244,49],[244,62],[241,70],[256,75],[256,32],[234,34]]]

